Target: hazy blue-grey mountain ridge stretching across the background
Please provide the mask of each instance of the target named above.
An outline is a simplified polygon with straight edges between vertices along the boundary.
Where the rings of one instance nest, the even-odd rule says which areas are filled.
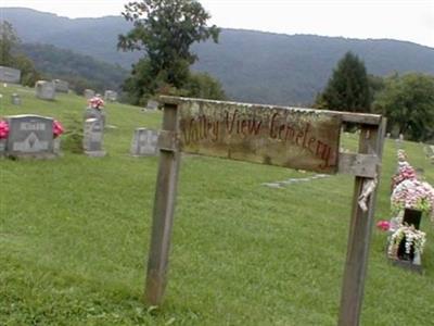
[[[131,28],[122,16],[69,20],[29,9],[0,10],[0,21],[11,22],[24,42],[54,45],[128,70],[142,55],[117,51],[117,36]],[[346,51],[359,55],[370,74],[434,74],[433,48],[392,39],[222,29],[218,45],[193,49],[200,59],[194,70],[217,77],[231,99],[247,102],[310,103]]]

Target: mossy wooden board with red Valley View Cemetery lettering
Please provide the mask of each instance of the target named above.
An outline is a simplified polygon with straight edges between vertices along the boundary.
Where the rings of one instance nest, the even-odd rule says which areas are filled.
[[[341,117],[330,111],[217,101],[179,106],[182,152],[336,173]]]

